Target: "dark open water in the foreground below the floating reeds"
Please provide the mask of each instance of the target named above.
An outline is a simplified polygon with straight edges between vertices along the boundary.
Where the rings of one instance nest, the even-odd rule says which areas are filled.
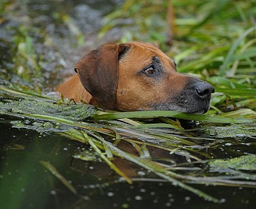
[[[157,179],[129,185],[103,163],[73,159],[78,147],[83,148],[81,143],[12,128],[8,119],[13,120],[5,118],[3,123],[1,118],[0,123],[1,208],[255,208],[255,189],[196,186],[226,200],[216,204]],[[55,166],[80,196],[46,171],[40,160]]]

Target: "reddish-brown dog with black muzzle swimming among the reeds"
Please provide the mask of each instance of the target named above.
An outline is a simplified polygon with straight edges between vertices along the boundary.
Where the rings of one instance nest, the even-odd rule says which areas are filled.
[[[56,91],[103,109],[173,110],[202,114],[214,88],[176,71],[175,62],[149,43],[105,44],[85,55]]]

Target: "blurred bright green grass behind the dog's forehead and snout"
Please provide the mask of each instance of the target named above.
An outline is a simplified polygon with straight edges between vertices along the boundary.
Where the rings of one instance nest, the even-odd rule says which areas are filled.
[[[122,42],[156,43],[175,58],[179,72],[213,84],[219,92],[213,98],[217,112],[237,106],[255,110],[255,6],[255,1],[127,0],[105,17],[99,36],[123,27]]]

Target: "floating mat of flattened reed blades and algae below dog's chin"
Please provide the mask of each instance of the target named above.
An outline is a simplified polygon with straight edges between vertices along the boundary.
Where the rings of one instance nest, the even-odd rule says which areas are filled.
[[[173,185],[178,185],[183,189],[189,190],[198,196],[201,196],[210,201],[219,202],[218,199],[205,194],[204,192],[194,189],[193,187],[185,184],[182,181],[190,182],[190,183],[205,183],[207,185],[241,185],[244,187],[256,187],[255,182],[244,182],[244,181],[234,181],[233,178],[235,176],[234,172],[230,172],[230,176],[226,174],[225,178],[221,178],[221,176],[213,177],[212,175],[207,177],[205,174],[201,176],[200,171],[198,169],[198,173],[195,175],[189,173],[189,167],[191,164],[196,162],[197,164],[205,165],[205,162],[209,162],[210,167],[212,168],[209,172],[221,172],[223,169],[223,162],[226,165],[225,168],[235,167],[235,169],[243,169],[244,167],[252,167],[253,162],[255,161],[255,155],[250,155],[249,157],[244,157],[241,160],[229,160],[229,164],[226,164],[223,160],[214,160],[210,161],[209,156],[205,155],[203,152],[204,147],[210,147],[211,140],[210,136],[207,137],[209,143],[206,143],[202,146],[197,141],[201,140],[201,137],[195,137],[191,130],[191,132],[187,132],[183,130],[182,125],[178,123],[178,121],[169,120],[165,118],[166,116],[176,116],[176,118],[182,118],[187,120],[199,120],[201,121],[201,125],[203,127],[197,128],[197,130],[201,130],[207,134],[207,130],[205,127],[208,127],[207,123],[215,121],[215,124],[212,123],[212,130],[218,131],[218,128],[225,127],[214,127],[217,123],[234,123],[235,121],[230,121],[230,118],[218,116],[215,117],[214,120],[211,119],[210,116],[205,117],[193,114],[181,114],[180,112],[174,111],[162,111],[163,116],[158,111],[146,111],[146,112],[114,112],[114,113],[106,113],[101,111],[96,111],[92,106],[85,104],[74,104],[72,101],[68,104],[60,104],[56,102],[55,99],[51,99],[49,97],[44,97],[43,95],[40,98],[35,97],[31,98],[31,95],[26,93],[19,93],[19,91],[6,89],[4,87],[0,88],[4,97],[9,97],[8,100],[3,101],[4,103],[0,103],[0,113],[8,116],[14,116],[16,118],[26,118],[25,121],[13,121],[13,127],[16,128],[28,128],[37,130],[38,132],[55,132],[58,134],[65,135],[69,137],[69,139],[73,139],[76,141],[80,141],[81,143],[89,144],[92,149],[99,155],[99,157],[104,160],[108,166],[110,166],[115,173],[119,174],[126,180],[128,183],[132,183],[132,180],[129,176],[126,175],[119,167],[115,166],[115,164],[111,161],[114,159],[114,156],[121,157],[130,162],[137,164],[138,166],[151,171],[156,176],[167,180],[167,182],[173,183]],[[12,99],[10,99],[10,97]],[[18,100],[15,101],[15,100]],[[38,112],[38,111],[39,112]],[[80,114],[83,114],[81,116]],[[234,114],[236,115],[236,114]],[[233,116],[234,116],[233,115]],[[230,114],[229,116],[232,116]],[[250,118],[255,118],[254,114],[246,114],[246,116],[250,116]],[[151,119],[152,117],[161,118],[165,123],[157,123],[157,124],[148,124],[145,123],[145,119]],[[128,120],[127,118],[137,118],[137,120]],[[121,121],[119,121],[119,120]],[[34,123],[30,123],[30,120],[40,120]],[[81,121],[83,120],[83,121]],[[108,123],[104,121],[109,120]],[[114,121],[113,121],[114,120]],[[123,120],[123,122],[122,122]],[[203,123],[206,121],[206,123]],[[246,136],[254,137],[256,135],[256,127],[255,127],[255,119],[250,120],[237,120],[237,123],[251,123],[250,127],[252,128],[252,132],[247,132]],[[159,126],[160,125],[160,126]],[[170,127],[166,125],[171,125]],[[242,128],[244,125],[237,125],[237,127]],[[161,127],[161,128],[159,128]],[[175,130],[173,130],[175,128]],[[229,127],[226,127],[226,130],[229,130]],[[185,131],[185,132],[183,132]],[[212,131],[211,131],[212,133]],[[110,135],[112,140],[108,141],[105,139],[104,135]],[[212,134],[211,134],[212,135]],[[213,134],[214,137],[218,137],[218,135]],[[225,137],[236,137],[234,133],[230,134],[226,133]],[[221,137],[223,139],[223,137]],[[193,141],[191,141],[193,139]],[[126,150],[120,149],[117,144],[120,141],[126,141],[132,144],[139,152],[139,156],[133,155]],[[161,142],[161,143],[160,143]],[[181,166],[171,166],[169,165],[169,160],[162,159],[161,162],[158,162],[157,159],[153,159],[151,157],[150,152],[147,147],[159,148],[160,150],[168,150],[175,155],[184,156],[187,159],[187,165]],[[205,157],[209,160],[205,160]],[[91,154],[90,152],[83,152],[80,155],[76,155],[76,158],[81,160],[90,160]],[[91,159],[94,160],[94,159]],[[195,161],[194,161],[195,160]],[[54,173],[57,178],[60,179],[64,185],[67,186],[69,190],[71,190],[74,194],[77,194],[76,189],[72,185],[69,185],[65,180],[64,176],[58,174],[55,167],[47,162],[41,162],[44,166],[49,167],[49,171]],[[241,163],[243,167],[241,167]],[[228,166],[229,165],[229,166]],[[237,168],[238,167],[238,168]],[[213,169],[214,168],[214,169]],[[186,170],[188,173],[182,174],[179,172]],[[254,169],[254,168],[253,168]],[[251,179],[254,180],[250,175],[246,175],[243,173],[237,174],[235,178],[238,179]],[[182,181],[181,181],[182,180]]]

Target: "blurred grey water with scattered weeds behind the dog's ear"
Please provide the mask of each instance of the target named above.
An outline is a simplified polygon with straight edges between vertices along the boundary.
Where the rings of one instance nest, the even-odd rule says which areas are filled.
[[[74,74],[74,65],[85,53],[120,38],[121,31],[108,33],[100,40],[97,34],[104,24],[104,15],[122,2],[22,0],[3,3],[4,12],[0,8],[3,16],[0,19],[0,84],[10,81],[43,91],[52,89],[64,77]],[[19,54],[27,38],[32,38],[31,52],[27,55],[37,62],[39,70]]]

